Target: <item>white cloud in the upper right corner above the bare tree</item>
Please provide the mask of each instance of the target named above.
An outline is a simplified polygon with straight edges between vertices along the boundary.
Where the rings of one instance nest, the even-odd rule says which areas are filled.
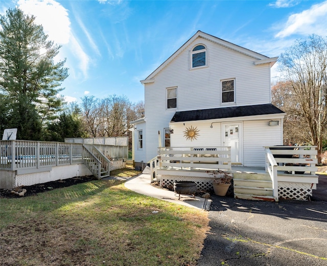
[[[282,30],[275,37],[284,38],[293,34],[318,34],[325,36],[327,1],[313,5],[310,9],[289,16]],[[325,21],[324,23],[322,21]]]

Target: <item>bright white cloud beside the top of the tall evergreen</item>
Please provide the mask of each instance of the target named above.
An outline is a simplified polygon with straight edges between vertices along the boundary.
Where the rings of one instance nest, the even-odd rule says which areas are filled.
[[[49,39],[58,44],[69,42],[71,21],[68,11],[54,0],[19,0],[18,7],[25,13],[33,14],[35,22],[43,26]]]

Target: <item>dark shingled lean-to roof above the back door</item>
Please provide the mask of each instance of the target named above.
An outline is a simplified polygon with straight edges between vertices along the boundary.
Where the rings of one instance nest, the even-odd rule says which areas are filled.
[[[285,112],[272,104],[223,107],[191,111],[178,111],[174,114],[171,122],[198,121],[265,114],[285,114]]]

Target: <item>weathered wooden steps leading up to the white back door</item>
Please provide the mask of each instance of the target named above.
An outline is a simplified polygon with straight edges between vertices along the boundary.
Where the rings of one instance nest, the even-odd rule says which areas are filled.
[[[233,173],[237,199],[274,201],[269,174]]]

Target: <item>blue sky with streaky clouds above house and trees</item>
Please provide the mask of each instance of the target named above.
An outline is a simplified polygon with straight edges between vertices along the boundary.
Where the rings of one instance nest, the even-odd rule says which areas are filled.
[[[269,57],[296,39],[327,36],[327,1],[1,0],[0,14],[15,6],[62,45],[69,77],[61,94],[77,102],[111,94],[144,100],[139,81],[198,30]]]

